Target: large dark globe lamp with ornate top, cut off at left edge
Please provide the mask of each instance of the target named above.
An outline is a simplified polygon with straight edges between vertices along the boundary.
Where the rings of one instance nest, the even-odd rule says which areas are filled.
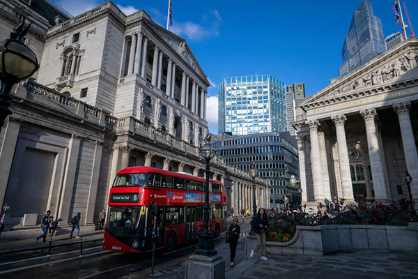
[[[0,42],[0,127],[4,124],[4,119],[11,114],[8,107],[10,91],[13,85],[20,80],[30,77],[38,70],[38,59],[35,53],[22,42],[24,36],[29,31],[29,24],[24,28],[24,20],[13,29],[10,38]]]

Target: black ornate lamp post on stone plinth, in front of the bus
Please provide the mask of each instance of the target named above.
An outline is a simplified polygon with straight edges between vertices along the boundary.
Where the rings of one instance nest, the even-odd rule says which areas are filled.
[[[209,231],[209,176],[210,176],[210,160],[215,157],[215,151],[210,144],[210,134],[205,137],[205,144],[201,146],[201,156],[206,160],[206,187],[205,187],[205,205],[203,206],[203,226],[205,229],[199,234],[199,243],[197,243],[196,254],[212,256],[216,255],[215,245],[213,244],[213,234]]]

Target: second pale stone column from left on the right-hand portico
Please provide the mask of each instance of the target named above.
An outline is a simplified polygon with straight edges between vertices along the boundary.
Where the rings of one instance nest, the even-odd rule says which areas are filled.
[[[311,156],[312,162],[312,179],[314,180],[314,199],[315,202],[323,202],[323,172],[320,164],[320,151],[318,141],[318,120],[307,121],[309,125],[309,135],[311,136]],[[318,162],[318,163],[317,163]]]

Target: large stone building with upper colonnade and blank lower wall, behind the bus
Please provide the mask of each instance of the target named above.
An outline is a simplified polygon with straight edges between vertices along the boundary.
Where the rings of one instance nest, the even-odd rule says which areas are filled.
[[[199,146],[210,83],[183,38],[144,10],[126,16],[111,2],[42,38],[37,80],[17,86],[1,128],[0,197],[11,229],[2,236],[38,233],[31,225],[47,209],[61,225],[80,212],[84,230],[93,229],[116,172],[130,165],[205,176]],[[238,183],[251,184],[219,158],[211,171],[229,204]],[[29,213],[38,218],[29,222]]]

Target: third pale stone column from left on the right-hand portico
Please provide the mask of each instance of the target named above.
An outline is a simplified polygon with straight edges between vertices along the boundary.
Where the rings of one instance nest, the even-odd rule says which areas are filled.
[[[346,122],[347,117],[344,114],[339,114],[332,116],[331,119],[332,121],[334,121],[336,130],[336,142],[338,144],[338,158],[340,165],[341,188],[343,192],[343,198],[346,199],[346,204],[353,204],[353,183],[351,183],[346,130],[344,128],[344,123]],[[314,147],[312,147],[312,149],[314,149]]]

